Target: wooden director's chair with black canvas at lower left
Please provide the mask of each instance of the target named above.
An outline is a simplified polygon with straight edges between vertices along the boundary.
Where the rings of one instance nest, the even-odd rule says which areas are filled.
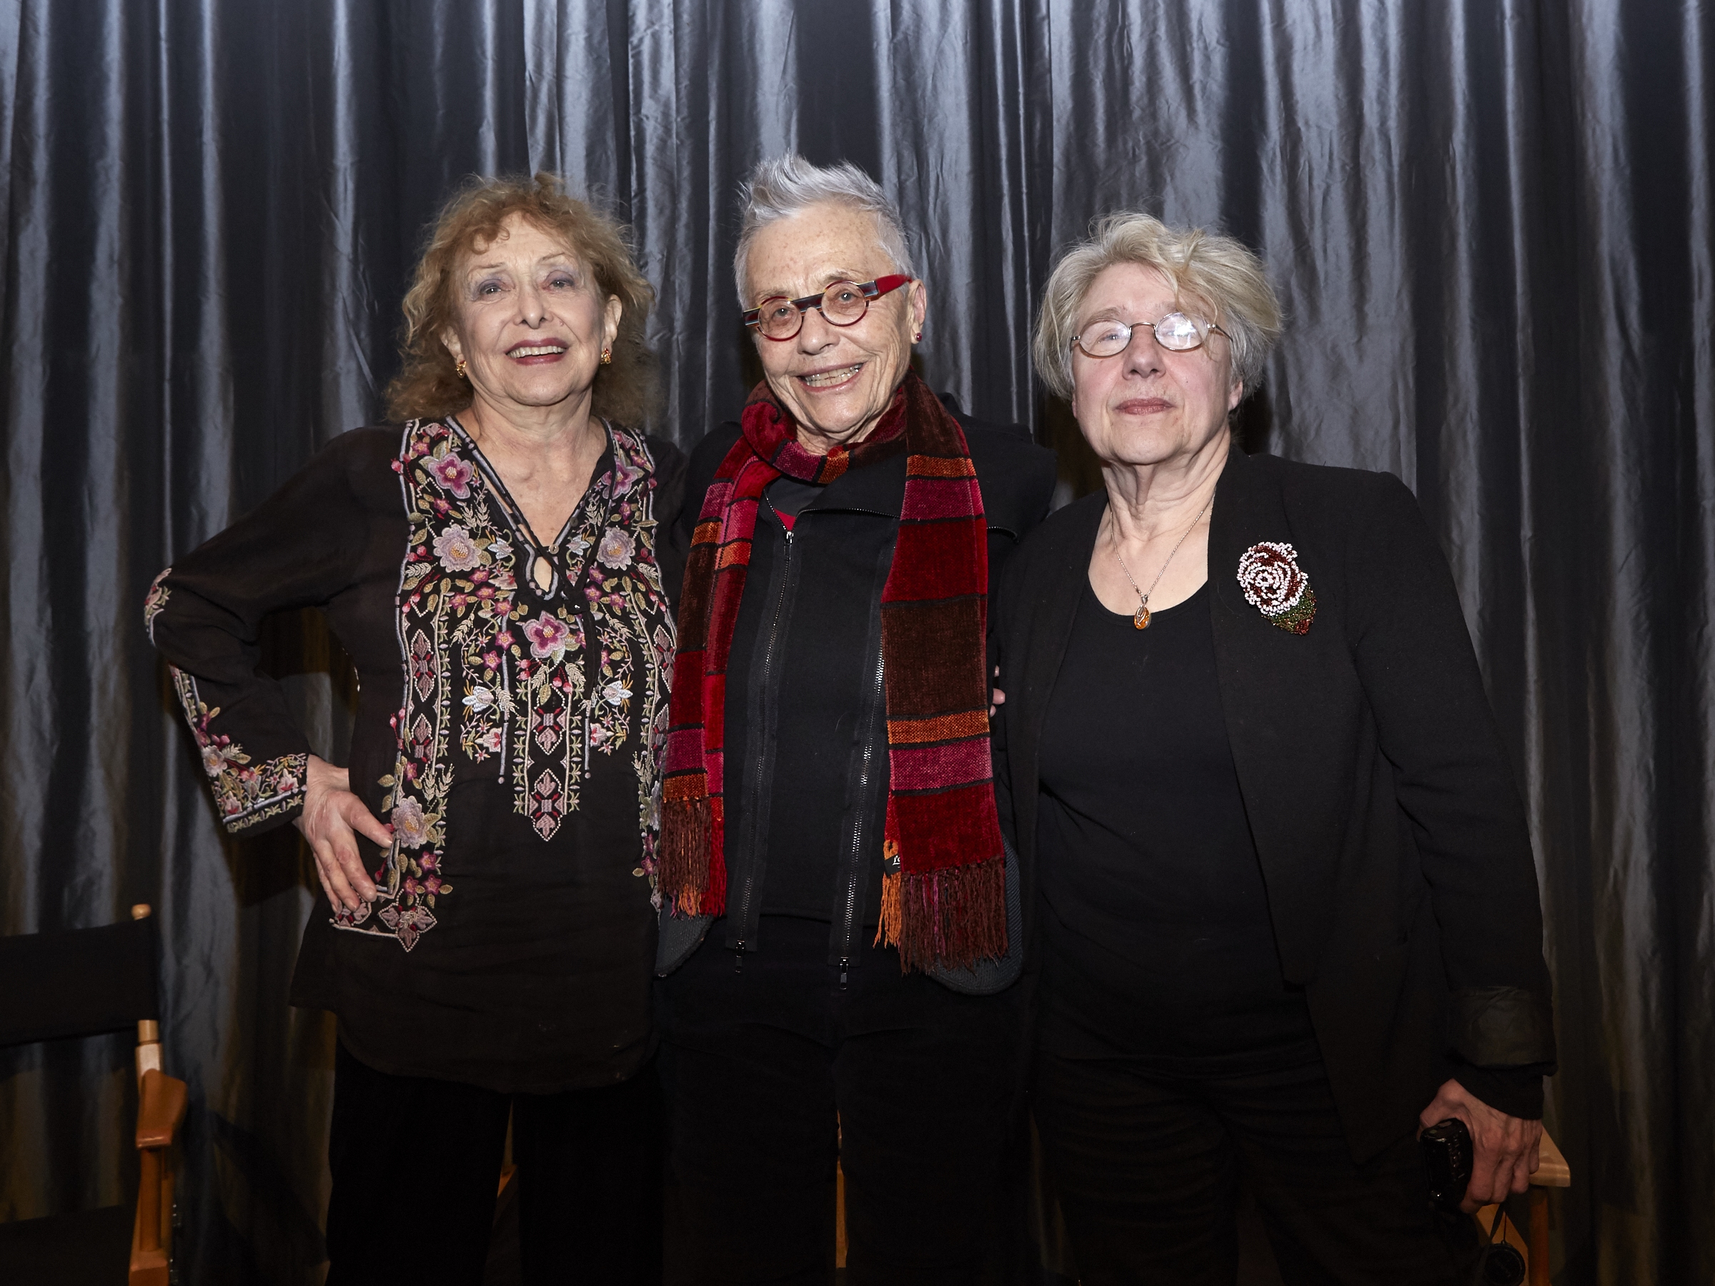
[[[134,1214],[113,1205],[0,1224],[0,1279],[7,1286],[117,1286],[122,1274],[129,1274],[129,1286],[172,1281],[172,1151],[185,1120],[185,1082],[161,1072],[159,952],[154,919],[142,904],[130,909],[130,922],[0,938],[0,1044],[99,1036],[135,1024],[142,1159]]]

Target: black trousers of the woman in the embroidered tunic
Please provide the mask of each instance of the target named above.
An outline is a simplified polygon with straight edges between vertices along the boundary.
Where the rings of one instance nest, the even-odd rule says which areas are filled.
[[[513,1116],[527,1283],[660,1281],[660,1089],[499,1094],[393,1077],[340,1046],[328,1286],[480,1286]]]

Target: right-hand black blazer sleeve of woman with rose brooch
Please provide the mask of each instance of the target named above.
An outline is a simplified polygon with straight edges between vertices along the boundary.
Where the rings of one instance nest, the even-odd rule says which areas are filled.
[[[1554,1019],[1525,808],[1447,561],[1405,484],[1372,478],[1348,549],[1348,629],[1441,929],[1447,1046],[1495,1073],[1471,1077],[1489,1094],[1530,1108],[1502,1111],[1540,1115]]]

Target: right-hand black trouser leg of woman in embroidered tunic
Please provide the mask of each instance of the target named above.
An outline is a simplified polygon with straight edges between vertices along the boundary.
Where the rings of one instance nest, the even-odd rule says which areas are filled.
[[[530,1286],[660,1281],[660,1085],[513,1097],[518,1240]]]

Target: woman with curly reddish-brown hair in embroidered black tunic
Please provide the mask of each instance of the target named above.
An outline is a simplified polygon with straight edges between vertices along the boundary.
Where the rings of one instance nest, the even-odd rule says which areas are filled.
[[[549,175],[475,183],[405,300],[394,424],[334,439],[149,593],[216,808],[292,821],[328,905],[295,1005],[340,1020],[334,1283],[482,1281],[513,1121],[528,1281],[650,1279],[657,742],[684,460],[640,432],[653,291]],[[321,607],[348,766],[257,672]]]

